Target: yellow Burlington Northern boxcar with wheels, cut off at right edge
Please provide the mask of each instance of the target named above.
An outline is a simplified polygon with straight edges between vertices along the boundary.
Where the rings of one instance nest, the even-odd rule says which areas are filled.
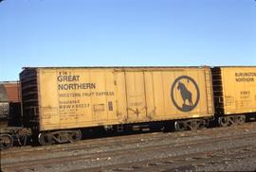
[[[256,67],[224,66],[212,70],[215,111],[219,124],[243,123],[256,112]]]

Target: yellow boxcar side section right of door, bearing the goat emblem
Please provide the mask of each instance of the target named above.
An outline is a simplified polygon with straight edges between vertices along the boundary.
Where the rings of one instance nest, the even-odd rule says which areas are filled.
[[[162,72],[165,117],[192,118],[212,115],[208,107],[205,69]],[[209,91],[208,91],[209,92]],[[157,96],[157,95],[156,95]],[[157,109],[158,107],[156,107]]]

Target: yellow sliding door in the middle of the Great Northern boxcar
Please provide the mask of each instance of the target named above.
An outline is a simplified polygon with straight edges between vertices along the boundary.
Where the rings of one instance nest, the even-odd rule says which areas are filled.
[[[140,71],[116,72],[118,114],[127,122],[147,116],[145,77]]]

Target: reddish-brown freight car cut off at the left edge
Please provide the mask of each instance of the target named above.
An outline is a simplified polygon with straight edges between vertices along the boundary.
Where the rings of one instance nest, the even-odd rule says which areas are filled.
[[[27,138],[21,123],[20,85],[18,81],[0,82],[0,147],[8,148]],[[28,129],[29,130],[29,129]]]

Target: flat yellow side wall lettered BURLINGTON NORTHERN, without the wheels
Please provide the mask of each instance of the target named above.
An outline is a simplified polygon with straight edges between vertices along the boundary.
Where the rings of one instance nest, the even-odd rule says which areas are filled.
[[[256,112],[256,67],[221,67],[224,113]]]

